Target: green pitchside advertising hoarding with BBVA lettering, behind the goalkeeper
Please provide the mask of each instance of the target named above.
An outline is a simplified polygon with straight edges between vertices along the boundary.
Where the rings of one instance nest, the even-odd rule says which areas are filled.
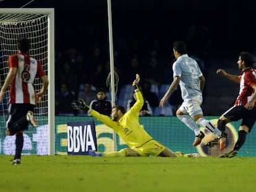
[[[39,118],[40,117],[36,117],[36,119]],[[215,125],[218,120],[218,117],[205,118],[211,120],[211,122]],[[75,128],[75,135],[77,135],[80,131],[80,133],[82,133],[82,137],[79,139],[79,143],[76,139],[78,136],[76,136],[75,139],[73,137],[72,142],[73,144],[75,144],[75,148],[74,146],[69,146],[69,142],[71,142],[71,140],[68,140],[68,134],[71,134],[71,130],[70,128],[68,129],[68,123],[85,123],[88,121],[95,123],[95,133],[93,131],[91,132],[92,127],[87,129],[87,127],[85,127],[86,125],[82,126],[81,129],[80,127]],[[122,148],[127,148],[127,145],[124,143],[124,141],[122,141],[118,136],[114,136],[115,133],[111,128],[106,127],[106,125],[103,125],[103,123],[99,122],[93,117],[58,116],[55,118],[55,122],[56,154],[68,154],[69,148],[71,150],[70,152],[72,152],[72,150],[75,150],[75,152],[85,152],[85,154],[87,154],[87,150],[89,148],[93,149],[93,146],[95,146],[95,150],[98,150],[100,152],[111,152],[114,151],[114,149],[118,151]],[[195,138],[194,133],[189,128],[187,128],[184,123],[177,119],[177,117],[140,117],[140,124],[143,126],[143,128],[145,128],[145,130],[147,130],[148,133],[153,136],[155,140],[164,144],[166,147],[170,148],[173,151],[182,151],[186,153],[198,152],[202,156],[218,156],[219,154],[230,151],[237,140],[237,130],[240,123],[241,121],[231,122],[227,124],[227,147],[226,149],[224,149],[224,151],[220,151],[218,149],[218,146],[212,149],[205,148],[204,144],[207,141],[211,140],[213,138],[213,135],[212,133],[209,133],[203,128],[201,129],[205,132],[206,136],[203,139],[202,144],[195,147],[192,146]],[[256,157],[255,127],[256,126],[254,125],[252,131],[247,135],[247,140],[245,141],[244,146],[242,146],[242,148],[239,150],[238,156]],[[5,127],[1,126],[0,154],[14,154],[15,136],[6,136],[4,131]],[[72,134],[74,133],[72,132]],[[91,135],[93,135],[92,138],[95,144],[92,144],[90,140]],[[116,143],[114,140],[116,140]],[[87,143],[87,146],[83,146],[83,144],[85,143]],[[48,125],[40,125],[35,129],[29,128],[28,131],[24,132],[24,146],[22,152],[23,154],[48,154]]]

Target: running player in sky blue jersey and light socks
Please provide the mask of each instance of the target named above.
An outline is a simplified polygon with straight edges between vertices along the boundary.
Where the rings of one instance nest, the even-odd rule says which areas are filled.
[[[182,41],[173,43],[173,53],[176,61],[173,64],[173,82],[160,101],[160,107],[168,96],[177,88],[181,87],[182,105],[177,109],[176,115],[179,120],[187,125],[195,133],[194,146],[201,143],[205,134],[200,131],[198,125],[207,128],[219,138],[220,150],[226,147],[226,133],[221,133],[209,120],[203,117],[201,104],[203,101],[202,91],[205,86],[205,78],[195,59],[187,55],[186,44]],[[223,142],[224,141],[224,142]]]

